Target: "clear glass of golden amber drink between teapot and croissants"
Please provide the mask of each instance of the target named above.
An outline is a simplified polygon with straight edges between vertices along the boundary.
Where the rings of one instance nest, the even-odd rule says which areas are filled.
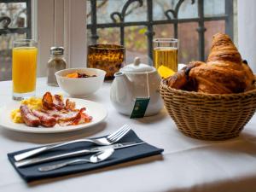
[[[154,39],[154,67],[162,78],[177,72],[178,40],[176,38]]]

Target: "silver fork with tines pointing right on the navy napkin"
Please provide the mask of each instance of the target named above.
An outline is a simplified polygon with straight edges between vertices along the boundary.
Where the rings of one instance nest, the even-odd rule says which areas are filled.
[[[42,148],[36,148],[32,149],[30,151],[26,151],[22,154],[16,154],[15,160],[25,160],[28,157],[31,157],[35,154],[41,154],[45,151],[48,151],[53,148],[59,148],[61,146],[65,146],[72,143],[81,143],[81,142],[89,142],[89,143],[95,143],[96,145],[111,145],[113,143],[117,143],[122,137],[125,136],[125,134],[131,130],[130,125],[123,125],[119,130],[114,131],[112,134],[108,135],[107,137],[101,137],[101,138],[88,138],[88,139],[77,139],[66,143],[55,143],[52,145],[47,145]]]

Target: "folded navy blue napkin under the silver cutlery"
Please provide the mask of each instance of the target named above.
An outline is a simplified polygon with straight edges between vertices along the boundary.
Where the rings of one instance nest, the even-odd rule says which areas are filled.
[[[134,131],[129,131],[125,137],[123,137],[121,140],[119,140],[119,143],[126,143],[126,142],[143,142],[139,137],[137,137],[136,133]],[[66,152],[73,152],[76,150],[84,149],[84,148],[90,148],[95,147],[92,143],[73,143],[70,145],[67,145],[65,147],[56,148],[52,151],[45,152],[44,154],[39,154],[40,157],[43,156],[51,156],[55,154],[61,154]],[[141,145],[132,146],[129,148],[119,148],[116,149],[111,157],[109,157],[107,160],[102,161],[97,164],[91,164],[91,163],[85,163],[85,164],[78,164],[73,166],[66,166],[62,167],[61,169],[56,169],[54,171],[50,172],[39,172],[38,167],[39,166],[49,166],[56,163],[61,163],[66,160],[75,160],[78,158],[90,158],[90,155],[92,154],[84,154],[77,157],[70,157],[68,159],[64,160],[55,160],[52,162],[44,162],[37,165],[32,166],[26,166],[26,167],[16,167],[15,166],[15,154],[20,154],[25,151],[31,150],[33,148],[29,148],[26,150],[21,150],[18,152],[10,153],[8,154],[9,161],[11,164],[15,167],[15,170],[20,174],[20,176],[26,180],[26,182],[38,180],[41,178],[49,178],[49,177],[59,177],[67,174],[72,173],[78,173],[78,172],[86,172],[90,170],[95,170],[98,168],[106,167],[106,166],[112,166],[119,163],[123,163],[129,160],[137,160],[143,157],[148,157],[154,154],[161,154],[163,152],[163,149],[161,148],[155,148],[154,146],[149,145],[148,143],[143,143]],[[39,156],[38,155],[38,156]]]

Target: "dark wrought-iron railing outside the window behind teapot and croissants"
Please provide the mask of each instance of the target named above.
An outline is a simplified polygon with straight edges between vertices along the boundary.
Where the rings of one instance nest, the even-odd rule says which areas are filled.
[[[205,0],[190,0],[191,4],[197,5],[197,17],[195,18],[179,18],[178,12],[183,4],[183,0],[177,1],[174,8],[166,8],[164,14],[166,15],[166,19],[164,20],[155,20],[153,17],[153,9],[154,9],[154,0],[127,0],[125,1],[123,7],[119,12],[113,11],[109,16],[112,21],[107,23],[98,23],[97,22],[97,0],[87,0],[90,1],[90,9],[91,9],[91,22],[87,25],[87,29],[90,30],[90,41],[93,44],[97,44],[97,39],[99,38],[97,29],[104,28],[119,28],[119,39],[121,45],[125,45],[125,27],[126,26],[145,26],[147,27],[147,32],[144,34],[147,36],[148,41],[148,63],[153,64],[153,39],[154,39],[154,26],[157,25],[169,25],[172,24],[174,27],[174,38],[177,37],[177,28],[178,24],[181,23],[198,23],[198,27],[196,31],[198,32],[198,60],[206,61],[207,57],[205,55],[205,32],[207,28],[205,26],[205,22],[207,21],[216,21],[216,20],[224,20],[225,21],[225,33],[229,34],[230,38],[234,36],[234,1],[235,0],[224,0],[225,4],[225,12],[222,15],[210,15],[207,16],[204,14],[204,3]],[[143,3],[146,3],[147,6],[147,20],[138,20],[138,21],[125,21],[126,11],[132,3],[137,3],[138,7],[142,7]]]

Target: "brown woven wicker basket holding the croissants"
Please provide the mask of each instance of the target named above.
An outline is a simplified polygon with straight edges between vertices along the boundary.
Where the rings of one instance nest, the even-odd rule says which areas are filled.
[[[256,89],[213,95],[175,90],[162,80],[160,95],[177,128],[189,137],[204,140],[238,137],[256,109]]]

